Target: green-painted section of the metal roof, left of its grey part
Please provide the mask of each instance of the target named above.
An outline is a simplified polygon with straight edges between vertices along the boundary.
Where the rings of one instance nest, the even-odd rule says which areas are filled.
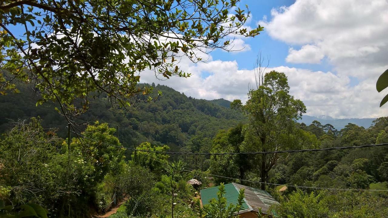
[[[200,190],[201,193],[201,200],[202,204],[206,205],[209,204],[209,201],[213,198],[217,199],[217,192],[219,186],[208,188],[208,189],[202,189]],[[233,185],[233,183],[229,183],[225,185],[225,195],[224,197],[227,200],[227,204],[238,204],[238,198],[239,198],[239,190],[236,189],[236,187]],[[245,199],[244,199],[245,200]],[[248,209],[249,206],[244,201],[242,203],[241,210]]]

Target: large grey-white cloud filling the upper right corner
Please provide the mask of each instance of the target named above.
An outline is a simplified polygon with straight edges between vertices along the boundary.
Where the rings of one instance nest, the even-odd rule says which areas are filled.
[[[287,61],[318,63],[326,56],[339,74],[357,78],[378,76],[388,55],[388,2],[386,0],[296,0],[289,7],[272,9],[272,19],[259,23],[268,34],[290,45]],[[306,57],[308,53],[313,57]],[[384,57],[384,58],[382,58]]]

